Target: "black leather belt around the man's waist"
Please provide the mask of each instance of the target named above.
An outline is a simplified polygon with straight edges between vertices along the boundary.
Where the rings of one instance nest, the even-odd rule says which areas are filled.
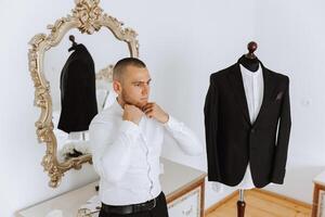
[[[102,203],[102,208],[105,210],[105,213],[110,214],[134,214],[153,209],[156,207],[157,199],[158,196],[144,203],[122,206],[114,206]]]

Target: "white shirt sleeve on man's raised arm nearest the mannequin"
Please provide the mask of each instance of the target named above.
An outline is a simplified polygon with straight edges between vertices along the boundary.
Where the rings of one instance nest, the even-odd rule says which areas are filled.
[[[168,122],[162,125],[184,153],[188,155],[203,153],[203,145],[198,138],[183,123],[169,115]]]

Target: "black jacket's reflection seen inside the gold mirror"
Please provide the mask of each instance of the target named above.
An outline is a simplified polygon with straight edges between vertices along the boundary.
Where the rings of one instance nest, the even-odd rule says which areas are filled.
[[[61,73],[61,115],[57,128],[83,131],[98,114],[94,62],[87,48],[79,43]]]

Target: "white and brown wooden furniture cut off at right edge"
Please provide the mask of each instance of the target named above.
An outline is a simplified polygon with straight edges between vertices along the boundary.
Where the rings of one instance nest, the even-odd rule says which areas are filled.
[[[312,217],[325,217],[325,171],[314,178]]]

